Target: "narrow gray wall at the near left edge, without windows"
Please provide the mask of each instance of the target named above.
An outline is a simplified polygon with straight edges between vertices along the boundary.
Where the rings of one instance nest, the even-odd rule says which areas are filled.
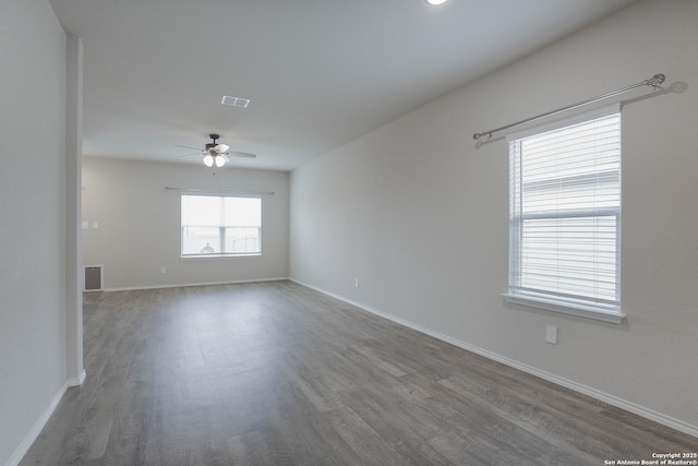
[[[0,464],[65,386],[65,34],[44,0],[0,12]]]

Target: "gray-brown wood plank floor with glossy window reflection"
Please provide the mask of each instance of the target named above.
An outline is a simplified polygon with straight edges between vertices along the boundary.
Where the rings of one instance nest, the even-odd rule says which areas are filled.
[[[22,465],[603,465],[697,440],[289,282],[85,295]]]

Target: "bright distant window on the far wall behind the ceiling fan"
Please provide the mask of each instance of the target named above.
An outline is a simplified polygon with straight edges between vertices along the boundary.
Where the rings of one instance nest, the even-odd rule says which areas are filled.
[[[262,200],[182,194],[182,258],[258,255]]]

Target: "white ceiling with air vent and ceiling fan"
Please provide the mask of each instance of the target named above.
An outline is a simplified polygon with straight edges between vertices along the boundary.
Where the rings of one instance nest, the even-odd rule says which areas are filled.
[[[84,44],[86,156],[290,170],[634,0],[50,0]],[[220,104],[248,97],[248,109]]]

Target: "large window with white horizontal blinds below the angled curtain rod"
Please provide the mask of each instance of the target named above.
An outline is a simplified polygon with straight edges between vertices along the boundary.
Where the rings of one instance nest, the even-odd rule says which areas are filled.
[[[609,112],[509,138],[508,301],[623,319],[621,113]]]

